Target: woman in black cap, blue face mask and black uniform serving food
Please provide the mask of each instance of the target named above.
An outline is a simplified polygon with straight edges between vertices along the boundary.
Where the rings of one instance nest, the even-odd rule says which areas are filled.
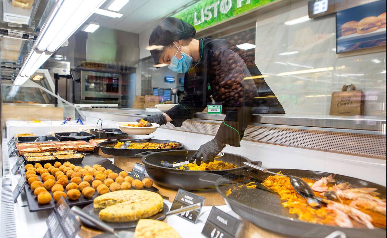
[[[165,113],[144,120],[181,127],[207,104],[222,103],[226,117],[215,138],[201,145],[190,158],[190,162],[196,160],[200,165],[201,159],[204,163],[214,161],[226,144],[239,147],[252,113],[284,111],[257,67],[247,68],[241,49],[224,39],[194,39],[195,32],[192,25],[175,17],[164,19],[153,29],[149,45],[159,46],[151,51],[155,65],[168,64],[176,73],[185,73],[187,95]]]

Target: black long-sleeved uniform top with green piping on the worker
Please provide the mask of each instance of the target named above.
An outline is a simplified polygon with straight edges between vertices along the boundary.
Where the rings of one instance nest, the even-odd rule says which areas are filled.
[[[181,127],[183,121],[195,112],[203,111],[207,103],[212,102],[212,95],[217,103],[222,103],[222,113],[226,114],[216,138],[239,147],[253,108],[284,113],[257,67],[246,66],[243,50],[224,39],[199,39],[199,53],[197,65],[185,73],[184,91],[187,95],[165,112],[175,127]]]

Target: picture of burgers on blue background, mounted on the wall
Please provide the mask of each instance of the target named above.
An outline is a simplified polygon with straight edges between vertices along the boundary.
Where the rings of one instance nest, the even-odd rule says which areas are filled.
[[[386,0],[336,14],[336,52],[386,45]]]

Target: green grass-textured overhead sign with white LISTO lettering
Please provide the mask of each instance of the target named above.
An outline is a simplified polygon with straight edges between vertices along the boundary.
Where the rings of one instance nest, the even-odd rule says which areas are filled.
[[[234,17],[275,0],[201,0],[173,17],[193,25],[196,30]]]

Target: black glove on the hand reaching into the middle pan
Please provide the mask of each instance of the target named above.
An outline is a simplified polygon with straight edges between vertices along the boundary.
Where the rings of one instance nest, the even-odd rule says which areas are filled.
[[[214,157],[219,154],[225,146],[225,144],[214,138],[204,145],[200,145],[199,149],[192,155],[189,162],[192,163],[196,161],[196,164],[200,165],[200,159],[202,159],[204,163],[208,164],[209,162],[214,161]]]

